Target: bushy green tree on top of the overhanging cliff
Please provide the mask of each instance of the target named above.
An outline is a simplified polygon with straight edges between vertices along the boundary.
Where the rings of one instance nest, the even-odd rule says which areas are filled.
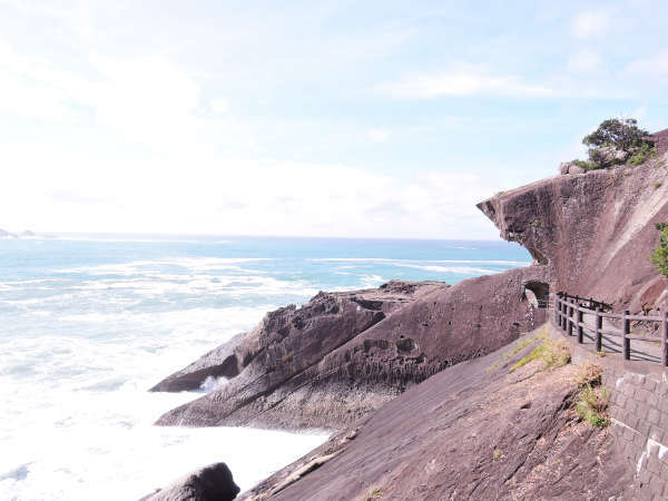
[[[584,136],[589,147],[589,161],[579,163],[588,169],[602,169],[629,161],[642,164],[656,154],[649,132],[638,127],[635,118],[609,118],[598,129]]]

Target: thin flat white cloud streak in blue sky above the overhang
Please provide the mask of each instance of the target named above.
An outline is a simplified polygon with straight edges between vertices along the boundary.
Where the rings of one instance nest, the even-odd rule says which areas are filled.
[[[456,65],[446,71],[407,76],[381,86],[394,98],[429,99],[443,96],[514,96],[549,97],[556,91],[548,87],[524,84],[518,77],[493,75],[482,67]]]

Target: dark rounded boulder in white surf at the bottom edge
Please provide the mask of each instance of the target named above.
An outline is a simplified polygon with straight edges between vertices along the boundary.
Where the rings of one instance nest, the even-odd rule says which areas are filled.
[[[200,468],[139,501],[232,501],[239,493],[225,463]]]

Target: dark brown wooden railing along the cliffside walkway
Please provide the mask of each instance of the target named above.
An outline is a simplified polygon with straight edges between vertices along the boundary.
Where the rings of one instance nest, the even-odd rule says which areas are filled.
[[[658,341],[661,345],[661,363],[664,366],[668,366],[668,312],[664,313],[664,316],[648,316],[631,315],[628,310],[625,310],[621,314],[610,313],[611,310],[610,305],[593,301],[592,298],[587,299],[579,296],[571,296],[562,292],[554,294],[554,324],[568,333],[569,336],[572,336],[573,331],[577,331],[578,343],[583,342],[584,332],[588,332],[593,335],[596,351],[600,352],[602,351],[603,335],[621,337],[621,353],[623,358],[631,360],[631,341]],[[584,315],[591,315],[593,321],[587,323]],[[621,321],[621,331],[610,326],[603,330],[603,318]],[[659,322],[661,338],[656,340],[647,335],[632,334],[631,322]]]

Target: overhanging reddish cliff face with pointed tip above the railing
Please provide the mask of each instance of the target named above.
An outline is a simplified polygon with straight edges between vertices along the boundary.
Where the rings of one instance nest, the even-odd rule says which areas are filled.
[[[666,145],[668,146],[668,145]],[[557,176],[478,207],[544,265],[554,291],[631,311],[668,305],[668,281],[650,263],[668,222],[668,154],[638,167]]]

